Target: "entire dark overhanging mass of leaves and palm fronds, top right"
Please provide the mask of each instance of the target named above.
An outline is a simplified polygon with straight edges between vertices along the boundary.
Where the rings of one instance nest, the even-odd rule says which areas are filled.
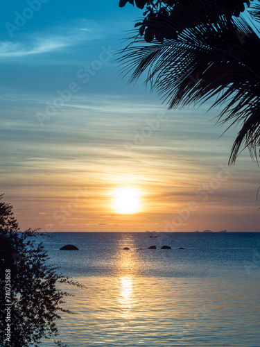
[[[245,148],[258,158],[260,38],[254,23],[260,22],[260,6],[254,5],[246,17],[241,12],[249,0],[139,1],[139,7],[141,3],[150,5],[119,58],[123,73],[131,74],[129,82],[146,73],[146,83],[168,108],[208,100],[211,107],[224,104],[218,121],[229,121],[228,128],[241,124],[229,164]]]

